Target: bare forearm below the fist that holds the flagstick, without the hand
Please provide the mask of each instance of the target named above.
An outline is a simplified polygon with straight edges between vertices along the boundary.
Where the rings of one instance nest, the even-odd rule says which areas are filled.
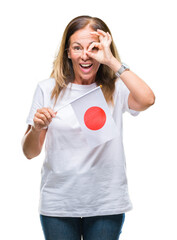
[[[42,131],[36,131],[31,127],[23,137],[22,149],[28,159],[32,159],[40,154],[43,145],[43,142],[41,142],[41,134],[43,134]]]

